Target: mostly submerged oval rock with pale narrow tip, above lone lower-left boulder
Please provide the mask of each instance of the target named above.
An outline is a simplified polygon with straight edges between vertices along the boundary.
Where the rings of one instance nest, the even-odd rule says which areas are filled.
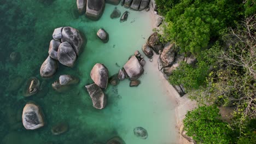
[[[36,94],[39,91],[39,88],[40,81],[37,79],[37,77],[31,77],[27,80],[25,85],[24,97],[30,97],[31,95]]]

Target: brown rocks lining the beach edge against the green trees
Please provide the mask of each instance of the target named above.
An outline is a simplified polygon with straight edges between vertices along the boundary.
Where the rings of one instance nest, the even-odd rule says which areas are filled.
[[[179,67],[179,63],[182,61],[188,64],[194,64],[196,58],[185,57],[184,55],[179,55],[176,52],[175,45],[171,43],[162,44],[160,42],[158,33],[153,33],[147,40],[147,43],[142,46],[142,51],[148,58],[152,58],[154,55],[153,51],[160,55],[158,58],[158,69],[164,74],[164,77],[168,77],[172,74],[173,70]],[[181,97],[186,93],[183,85],[174,86]]]

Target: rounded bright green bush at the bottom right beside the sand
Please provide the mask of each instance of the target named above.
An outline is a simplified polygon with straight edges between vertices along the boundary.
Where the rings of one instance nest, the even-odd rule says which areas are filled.
[[[198,143],[230,143],[232,130],[219,118],[216,106],[201,106],[187,113],[184,128]]]

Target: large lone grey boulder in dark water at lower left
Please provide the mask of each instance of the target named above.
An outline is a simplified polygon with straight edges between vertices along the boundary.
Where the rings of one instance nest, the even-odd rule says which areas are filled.
[[[44,126],[44,119],[40,107],[28,102],[22,112],[22,123],[26,129],[38,129]]]

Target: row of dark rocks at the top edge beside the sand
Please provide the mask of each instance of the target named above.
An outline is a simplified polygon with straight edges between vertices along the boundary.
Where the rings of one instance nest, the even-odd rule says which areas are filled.
[[[150,0],[121,0],[121,5],[132,10],[149,10]]]

